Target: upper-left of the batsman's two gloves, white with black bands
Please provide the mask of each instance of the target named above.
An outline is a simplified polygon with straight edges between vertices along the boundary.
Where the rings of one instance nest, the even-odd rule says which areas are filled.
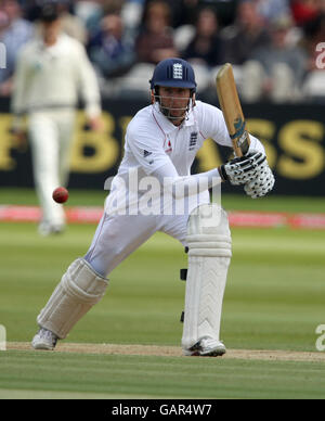
[[[266,166],[266,156],[257,152],[221,165],[220,174],[224,181],[230,181],[233,186],[243,186],[257,179]]]

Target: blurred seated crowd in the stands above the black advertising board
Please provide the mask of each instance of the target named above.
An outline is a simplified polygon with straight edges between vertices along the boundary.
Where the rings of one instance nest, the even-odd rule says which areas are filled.
[[[325,103],[325,0],[56,0],[62,28],[83,43],[103,97],[148,98],[154,66],[188,60],[198,95],[216,95],[231,62],[243,101]],[[21,48],[38,34],[40,0],[1,0],[10,97]]]

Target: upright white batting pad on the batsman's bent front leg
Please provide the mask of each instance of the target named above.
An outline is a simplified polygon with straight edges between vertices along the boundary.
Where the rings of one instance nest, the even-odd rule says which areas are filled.
[[[232,241],[225,212],[202,205],[187,225],[188,269],[182,346],[187,349],[204,336],[216,340],[220,322]]]

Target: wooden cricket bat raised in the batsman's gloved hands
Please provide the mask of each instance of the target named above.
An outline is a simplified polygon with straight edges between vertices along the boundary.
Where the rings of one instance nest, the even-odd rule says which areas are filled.
[[[233,68],[230,63],[225,63],[218,72],[217,93],[227,131],[233,141],[236,156],[243,156],[248,151],[250,139],[246,130],[238,92],[234,79]]]

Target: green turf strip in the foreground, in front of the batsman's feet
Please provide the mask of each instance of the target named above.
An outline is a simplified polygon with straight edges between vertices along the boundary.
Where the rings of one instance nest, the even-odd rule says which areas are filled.
[[[11,352],[0,366],[0,398],[25,390],[36,397],[322,399],[325,391],[316,362]]]

